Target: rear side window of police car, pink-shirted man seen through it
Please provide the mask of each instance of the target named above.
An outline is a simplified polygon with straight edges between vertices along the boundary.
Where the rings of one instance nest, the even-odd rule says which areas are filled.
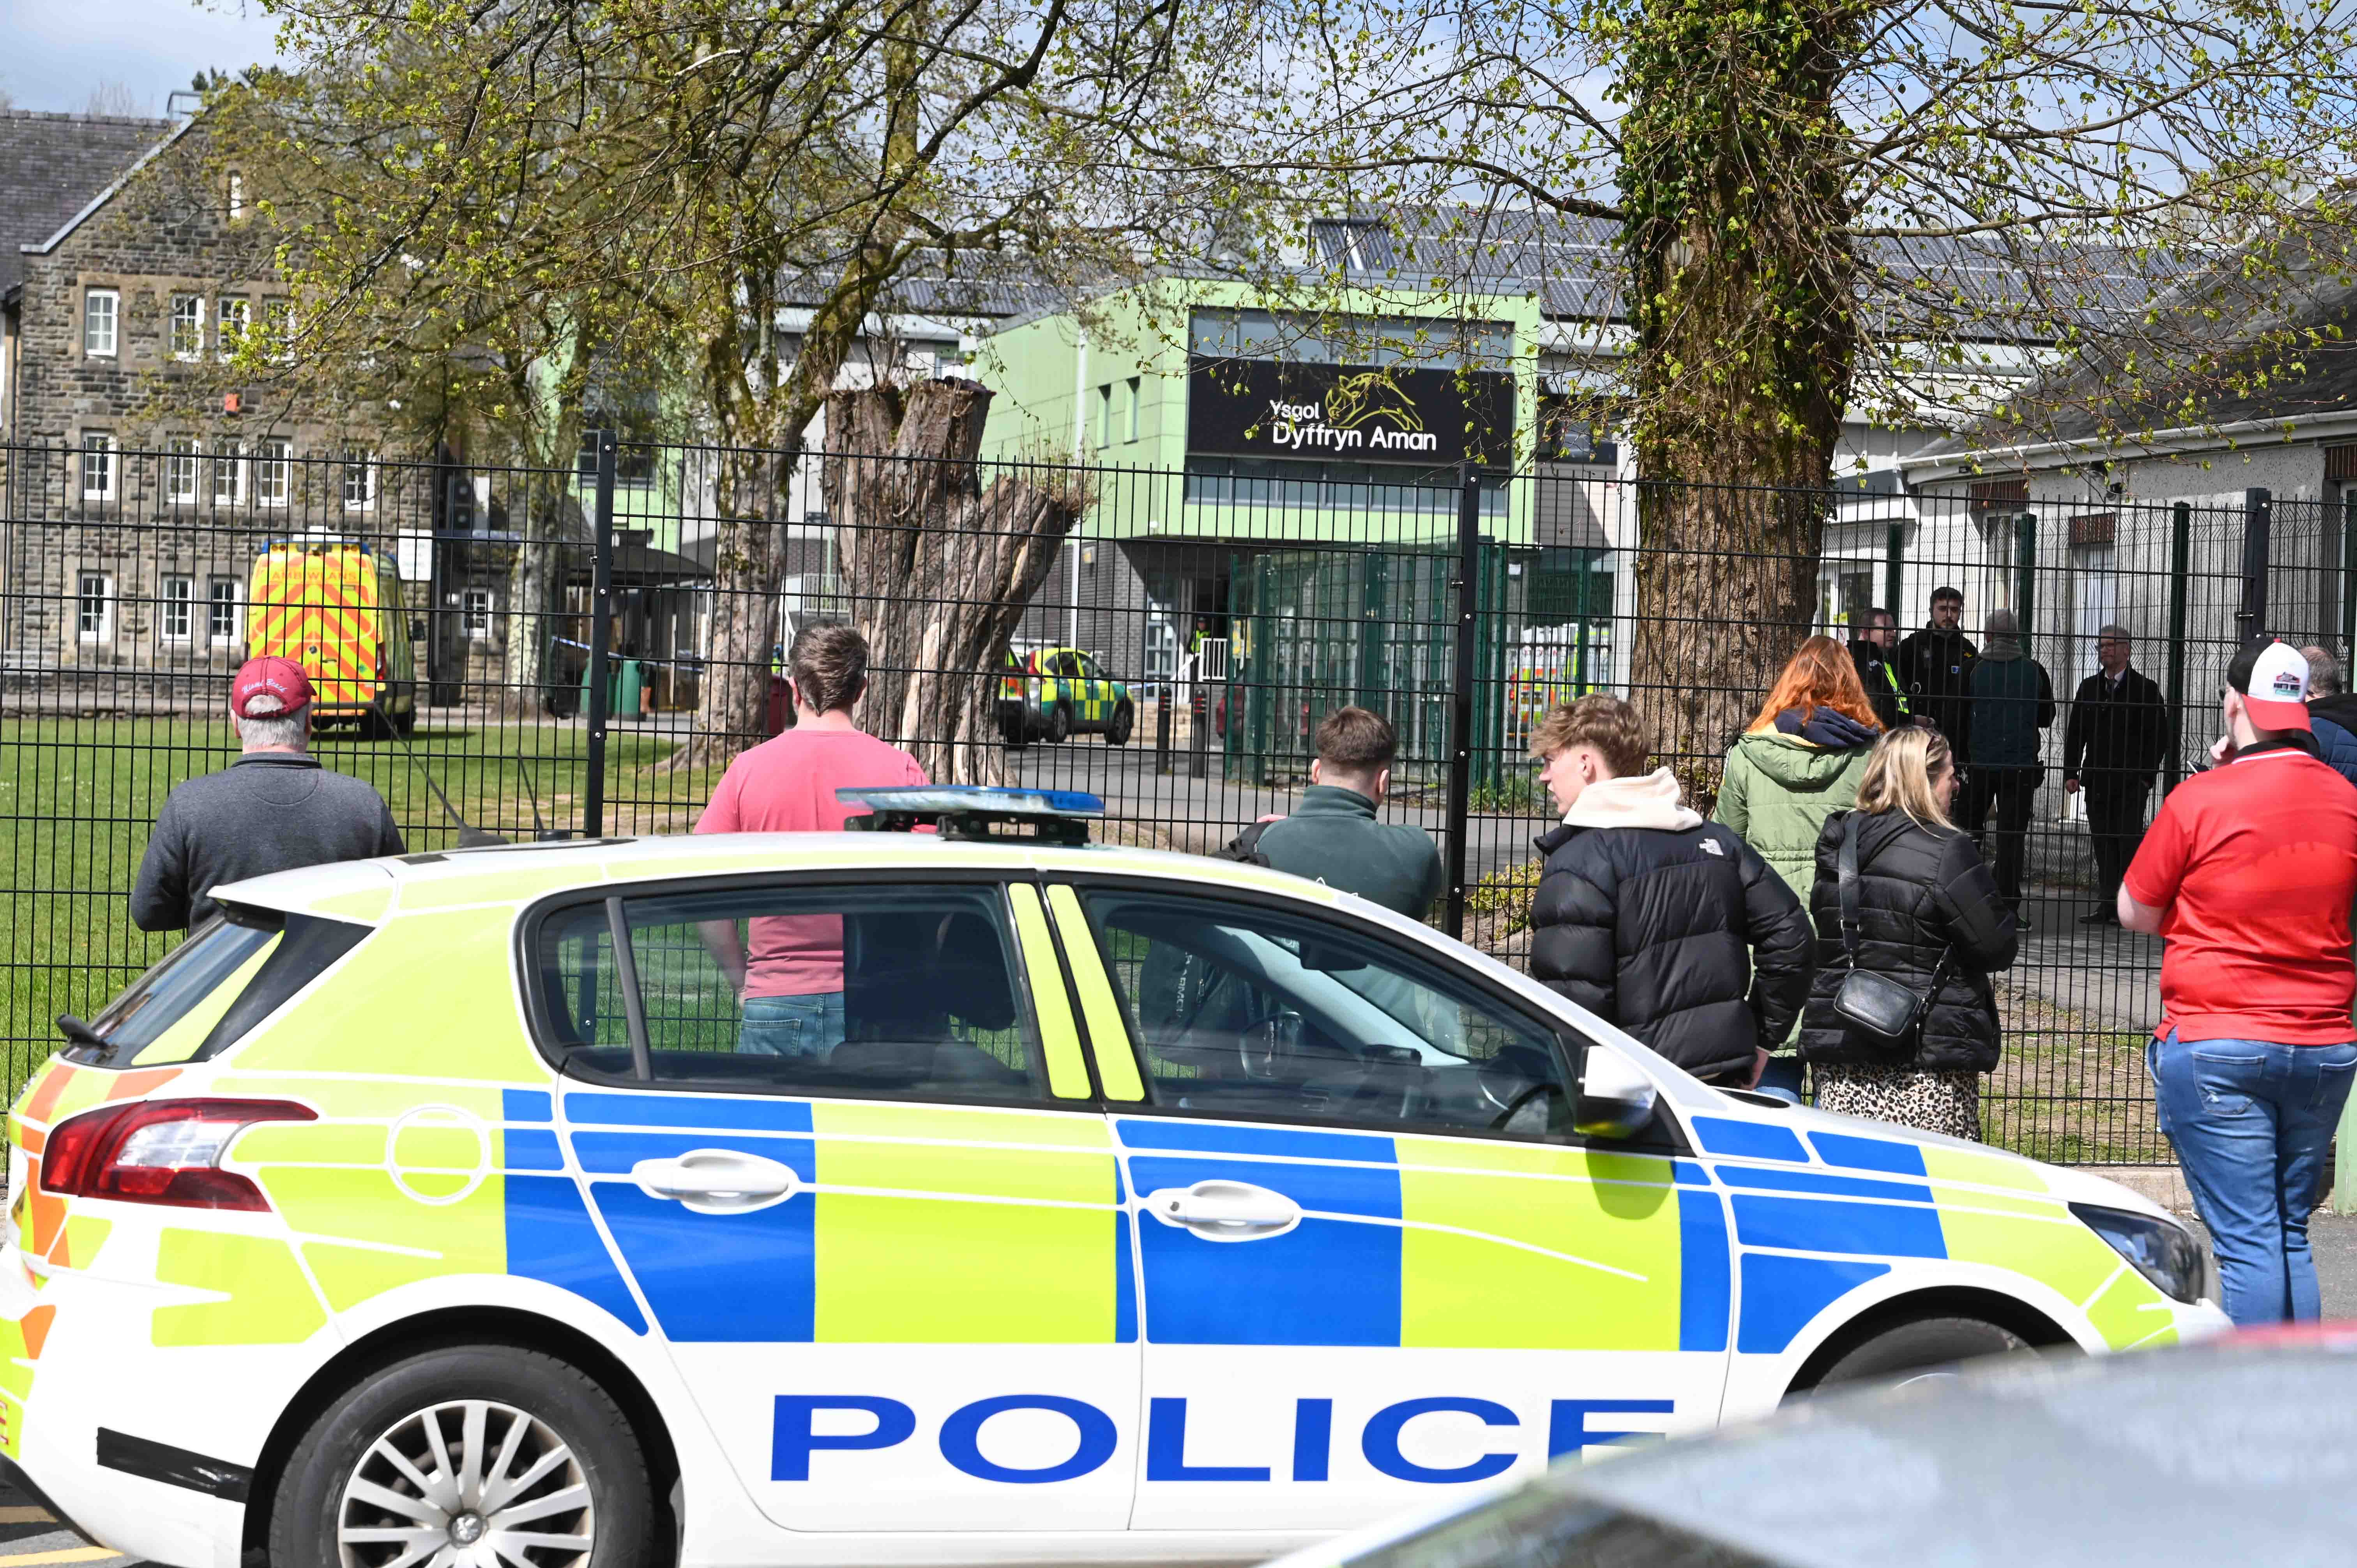
[[[702,1089],[1049,1099],[997,887],[618,903],[620,922],[606,903],[570,905],[535,936],[537,1012],[568,1070]]]

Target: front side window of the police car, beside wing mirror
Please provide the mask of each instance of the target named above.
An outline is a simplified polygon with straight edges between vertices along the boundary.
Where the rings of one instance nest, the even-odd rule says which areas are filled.
[[[1160,1106],[1518,1137],[1567,1122],[1551,1033],[1402,948],[1252,903],[1084,903]]]

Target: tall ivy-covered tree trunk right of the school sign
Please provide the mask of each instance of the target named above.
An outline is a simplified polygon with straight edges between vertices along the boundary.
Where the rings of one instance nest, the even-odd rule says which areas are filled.
[[[1829,0],[1648,0],[1631,24],[1631,698],[1697,797],[1716,792],[1718,757],[1815,615],[1857,354],[1834,92],[1862,17]]]

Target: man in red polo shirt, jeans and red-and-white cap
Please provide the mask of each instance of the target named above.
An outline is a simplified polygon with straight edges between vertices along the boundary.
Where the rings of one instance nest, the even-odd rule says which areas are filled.
[[[2357,790],[2317,759],[2308,660],[2291,644],[2237,653],[2220,705],[2220,766],[2161,802],[2119,924],[2168,943],[2145,1059],[2225,1311],[2305,1320],[2319,1313],[2308,1212],[2357,1078]]]

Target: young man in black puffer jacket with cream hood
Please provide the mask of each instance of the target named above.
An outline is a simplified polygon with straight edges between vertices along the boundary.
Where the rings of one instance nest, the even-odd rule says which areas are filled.
[[[1532,736],[1563,828],[1539,839],[1530,974],[1695,1078],[1758,1080],[1808,1000],[1808,915],[1749,844],[1678,799],[1636,710],[1589,696]]]

